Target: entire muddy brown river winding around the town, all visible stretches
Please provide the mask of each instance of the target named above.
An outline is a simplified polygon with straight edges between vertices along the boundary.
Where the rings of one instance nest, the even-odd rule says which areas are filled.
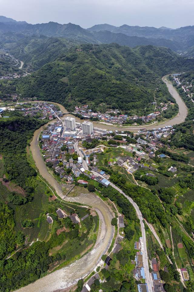
[[[157,126],[155,124],[152,126],[149,125],[140,127],[112,126],[105,125],[99,122],[93,122],[94,127],[106,128],[107,130],[137,131],[139,128],[142,127],[146,129],[152,129],[153,127],[165,127],[167,125],[173,126],[175,124],[182,123],[187,116],[187,108],[176,89],[167,80],[166,76],[164,76],[162,80],[166,83],[169,92],[176,99],[176,102],[179,105],[179,113],[172,120],[161,124],[158,123]],[[58,103],[55,104],[60,107],[63,113],[67,113],[67,110],[62,105]],[[71,115],[69,114],[69,116]],[[76,120],[79,122],[83,122],[83,120],[80,120],[79,118],[76,118]],[[52,121],[52,123],[53,122],[54,121]],[[48,172],[45,162],[43,161],[40,150],[38,148],[38,136],[46,126],[47,125],[44,125],[43,127],[35,131],[30,149],[32,151],[33,159],[35,160],[35,164],[41,176],[46,181],[48,181],[49,184],[56,190],[57,194],[63,198],[64,195],[62,193],[61,186]],[[99,262],[101,255],[108,250],[114,235],[114,228],[111,225],[111,219],[113,217],[113,214],[110,208],[98,196],[91,193],[80,194],[77,197],[66,197],[65,200],[69,202],[79,202],[84,205],[90,205],[94,207],[97,211],[100,218],[100,227],[94,248],[88,254],[84,255],[81,259],[60,270],[48,274],[47,276],[37,280],[34,283],[29,284],[26,287],[22,287],[16,290],[16,292],[53,292],[68,288],[71,285],[75,284],[80,278],[88,275]]]

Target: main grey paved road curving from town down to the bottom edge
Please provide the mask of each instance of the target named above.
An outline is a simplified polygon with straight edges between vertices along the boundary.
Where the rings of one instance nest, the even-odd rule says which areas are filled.
[[[92,171],[96,176],[101,176],[98,172]],[[103,176],[101,176],[103,177]],[[104,177],[103,177],[104,178]],[[139,218],[140,224],[141,224],[141,230],[142,230],[142,239],[143,239],[143,245],[144,245],[144,251],[143,251],[143,265],[144,265],[144,270],[146,274],[146,282],[148,285],[148,292],[152,292],[152,283],[151,283],[151,278],[150,278],[150,273],[149,273],[149,264],[148,264],[148,254],[147,254],[147,246],[146,246],[146,231],[145,231],[145,226],[143,222],[143,216],[141,211],[139,210],[138,205],[130,198],[127,196],[121,189],[119,189],[117,186],[115,186],[112,182],[110,182],[110,185],[116,189],[119,193],[123,194],[129,202],[133,205],[135,208],[135,211],[137,213],[137,216]]]

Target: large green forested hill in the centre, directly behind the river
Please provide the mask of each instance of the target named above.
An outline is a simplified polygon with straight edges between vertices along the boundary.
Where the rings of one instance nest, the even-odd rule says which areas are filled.
[[[145,105],[154,101],[156,88],[156,96],[170,98],[162,75],[193,66],[194,60],[165,48],[83,44],[15,81],[15,85],[22,96],[57,101],[69,110],[81,103],[105,103],[144,113]]]

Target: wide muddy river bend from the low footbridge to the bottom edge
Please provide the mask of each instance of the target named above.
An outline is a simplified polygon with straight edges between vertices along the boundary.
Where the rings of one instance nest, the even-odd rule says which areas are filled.
[[[47,276],[16,290],[17,292],[52,292],[65,289],[87,276],[98,264],[102,254],[106,253],[111,245],[114,227],[111,220],[114,217],[110,208],[95,194],[80,194],[78,197],[67,197],[66,201],[79,202],[95,208],[99,215],[99,231],[97,241],[92,251],[72,264],[57,270]]]

